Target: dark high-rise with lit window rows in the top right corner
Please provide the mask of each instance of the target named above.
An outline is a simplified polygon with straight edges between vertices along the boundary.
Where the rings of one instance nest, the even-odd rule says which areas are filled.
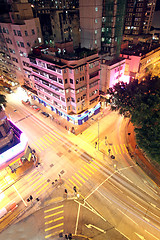
[[[127,0],[124,34],[148,34],[155,6],[156,0]]]

